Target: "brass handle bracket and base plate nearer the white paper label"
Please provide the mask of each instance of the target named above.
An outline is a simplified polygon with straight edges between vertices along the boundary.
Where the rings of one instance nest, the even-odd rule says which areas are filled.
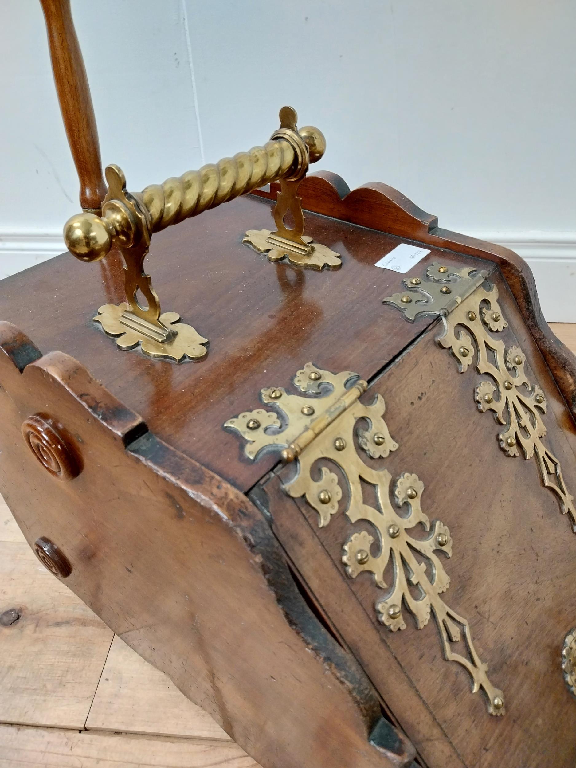
[[[270,137],[270,141],[287,141],[293,147],[296,157],[294,173],[280,179],[280,192],[274,207],[276,231],[248,230],[242,242],[260,253],[266,253],[272,262],[287,259],[294,266],[307,269],[323,270],[327,267],[337,270],[342,266],[340,254],[321,243],[314,243],[311,237],[304,235],[305,220],[302,198],[297,194],[298,187],[306,177],[310,162],[319,160],[324,154],[326,144],[322,134],[319,134],[322,137],[321,144],[306,141],[316,129],[306,126],[298,131],[297,119],[292,107],[283,107],[280,110],[280,128]],[[293,217],[293,228],[286,227],[284,221],[289,213]]]

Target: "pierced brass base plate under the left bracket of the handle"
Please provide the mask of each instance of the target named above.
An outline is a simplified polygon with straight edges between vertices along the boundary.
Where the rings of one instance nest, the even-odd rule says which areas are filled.
[[[104,304],[92,319],[101,324],[108,336],[118,337],[116,343],[120,349],[140,345],[145,355],[174,362],[197,360],[207,353],[204,345],[208,339],[192,326],[180,323],[176,312],[164,312],[158,318],[164,331],[131,313],[127,303]]]

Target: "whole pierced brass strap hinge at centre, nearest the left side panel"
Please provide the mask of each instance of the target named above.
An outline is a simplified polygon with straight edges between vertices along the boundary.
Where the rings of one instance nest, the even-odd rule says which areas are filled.
[[[392,475],[386,468],[378,469],[372,462],[366,463],[357,452],[355,438],[369,460],[386,458],[399,447],[382,418],[386,409],[382,396],[376,395],[368,406],[359,402],[365,384],[353,372],[333,374],[309,362],[294,379],[296,389],[304,396],[286,392],[282,387],[262,389],[260,399],[274,410],[240,413],[224,426],[237,431],[247,441],[244,452],[248,458],[255,459],[260,451],[271,447],[285,447],[288,452],[285,458],[298,458],[299,472],[284,488],[293,498],[306,498],[318,513],[320,528],[329,525],[339,509],[346,508],[346,516],[355,525],[355,531],[343,545],[346,574],[349,578],[356,578],[362,571],[373,574],[383,591],[382,598],[376,602],[379,621],[390,631],[404,630],[406,609],[414,617],[416,627],[422,629],[433,613],[445,658],[468,671],[474,692],[484,690],[489,713],[503,714],[502,691],[488,680],[488,667],[478,657],[468,621],[452,611],[440,596],[449,588],[450,580],[439,553],[452,556],[452,537],[441,521],[431,524],[422,512],[423,482],[417,475],[407,472],[401,475],[393,485],[392,505]],[[369,428],[362,429],[358,422],[367,422]],[[308,437],[303,439],[303,435]],[[321,462],[318,480],[312,475],[316,462]],[[343,473],[344,488],[338,475],[329,469],[331,464]],[[314,474],[317,476],[316,469]],[[376,505],[364,500],[362,482],[376,489]],[[346,502],[341,505],[345,494]],[[371,532],[357,528],[357,523],[368,523]],[[424,538],[416,528],[419,524],[427,533]],[[376,554],[373,554],[375,544]],[[394,573],[392,585],[386,584],[383,578],[390,561]],[[410,586],[419,591],[418,598],[412,596]],[[452,647],[462,635],[467,656]]]

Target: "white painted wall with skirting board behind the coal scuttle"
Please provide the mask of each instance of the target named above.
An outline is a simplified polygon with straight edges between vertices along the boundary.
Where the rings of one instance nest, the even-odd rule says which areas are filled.
[[[326,134],[316,167],[386,181],[442,227],[507,244],[548,319],[576,321],[574,0],[72,8],[103,161],[131,188],[262,143],[292,104]],[[0,0],[0,18],[2,273],[58,250],[78,184],[38,2]]]

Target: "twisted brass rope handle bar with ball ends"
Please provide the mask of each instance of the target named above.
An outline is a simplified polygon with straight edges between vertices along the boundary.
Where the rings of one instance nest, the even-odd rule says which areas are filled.
[[[316,162],[323,156],[326,141],[315,127],[306,126],[300,131],[286,127],[295,123],[296,113],[290,107],[283,107],[280,131],[263,147],[225,157],[215,165],[208,164],[200,170],[167,179],[164,184],[151,184],[141,193],[127,193],[125,187],[119,192],[118,184],[112,185],[111,178],[117,177],[123,182],[124,174],[118,167],[108,166],[109,188],[102,205],[103,215],[84,213],[71,217],[64,229],[68,250],[82,261],[98,261],[106,256],[115,241],[124,249],[141,242],[143,237],[149,243],[153,232],[271,181],[300,179],[309,161]]]

